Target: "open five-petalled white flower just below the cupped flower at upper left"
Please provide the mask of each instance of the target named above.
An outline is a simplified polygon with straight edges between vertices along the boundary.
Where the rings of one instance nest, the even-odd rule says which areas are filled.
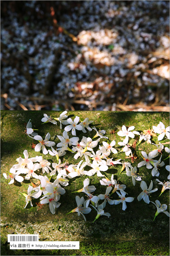
[[[38,143],[36,146],[35,146],[35,151],[40,151],[41,148],[42,148],[42,153],[44,155],[47,155],[48,154],[48,150],[45,148],[45,146],[48,146],[48,147],[52,147],[52,146],[55,146],[55,142],[53,141],[49,141],[49,138],[50,138],[50,134],[49,132],[47,133],[46,137],[45,137],[45,140],[42,139],[42,137],[40,135],[36,135],[34,136],[34,140],[38,140],[40,143]]]

